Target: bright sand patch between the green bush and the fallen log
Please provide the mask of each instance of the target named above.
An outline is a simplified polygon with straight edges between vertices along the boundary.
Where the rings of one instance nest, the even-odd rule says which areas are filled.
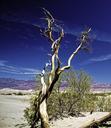
[[[92,115],[86,113],[86,117],[68,117],[63,120],[59,119],[52,124],[53,128],[83,128],[91,124],[93,121],[102,119],[109,112],[94,112]]]

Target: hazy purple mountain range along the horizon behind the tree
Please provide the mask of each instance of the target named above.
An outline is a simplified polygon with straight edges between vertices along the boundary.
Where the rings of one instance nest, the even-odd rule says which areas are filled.
[[[40,87],[40,82],[36,80],[17,80],[12,78],[0,78],[0,89],[11,88],[11,89],[29,90],[38,87]],[[101,89],[111,90],[111,84],[94,82],[91,88],[93,90],[101,90]]]

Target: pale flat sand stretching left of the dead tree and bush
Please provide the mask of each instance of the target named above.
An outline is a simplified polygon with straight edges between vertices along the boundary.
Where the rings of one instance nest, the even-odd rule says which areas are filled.
[[[0,95],[0,128],[28,128],[23,111],[27,96]]]

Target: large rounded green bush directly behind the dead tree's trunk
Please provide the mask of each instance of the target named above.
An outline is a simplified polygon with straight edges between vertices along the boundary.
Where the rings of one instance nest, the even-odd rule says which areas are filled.
[[[62,87],[64,81],[66,86]],[[89,96],[90,85],[91,79],[83,71],[70,71],[61,75],[47,100],[49,119],[79,116],[81,111],[89,111],[94,108],[93,96]],[[30,107],[25,110],[25,117],[29,125],[34,118],[37,102],[38,93],[35,93],[31,97]]]

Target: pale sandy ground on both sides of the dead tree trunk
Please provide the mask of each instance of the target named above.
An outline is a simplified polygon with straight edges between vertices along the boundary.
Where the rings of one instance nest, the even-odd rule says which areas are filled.
[[[0,128],[29,128],[24,119],[24,109],[29,105],[29,96],[0,95]],[[86,113],[86,117],[69,117],[53,121],[53,128],[82,128],[82,124],[107,115],[105,112]]]

